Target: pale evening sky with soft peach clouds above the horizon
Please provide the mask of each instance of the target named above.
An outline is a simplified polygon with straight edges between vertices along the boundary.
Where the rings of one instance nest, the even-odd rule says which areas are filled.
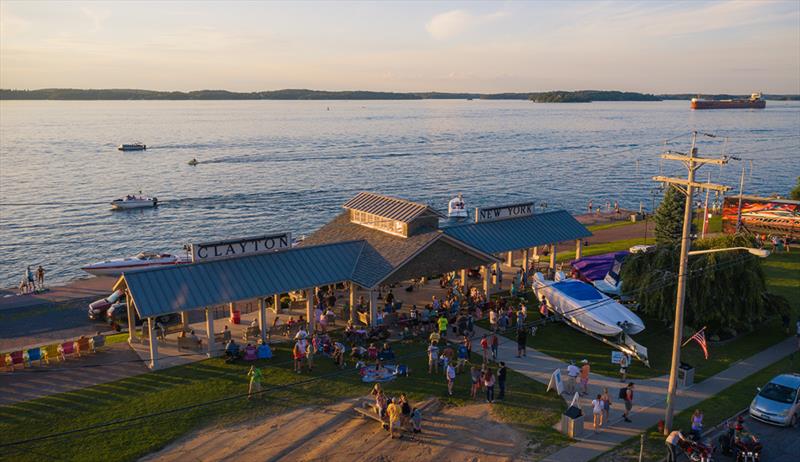
[[[800,93],[800,0],[0,0],[1,88]]]

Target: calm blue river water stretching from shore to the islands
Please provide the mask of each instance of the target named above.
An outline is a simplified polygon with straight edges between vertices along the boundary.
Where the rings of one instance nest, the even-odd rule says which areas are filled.
[[[140,250],[307,234],[361,190],[440,209],[459,191],[469,207],[535,199],[582,212],[592,198],[650,208],[649,178],[683,173],[661,165],[663,140],[685,151],[692,129],[729,136],[727,152],[754,159],[747,192],[786,194],[800,174],[800,104],[768,104],[4,101],[0,287],[27,264],[65,281],[83,276],[83,263]],[[115,150],[132,141],[149,149]],[[721,138],[700,145],[701,155],[722,150]],[[187,165],[193,157],[201,164]],[[740,167],[701,172],[736,186]],[[163,205],[110,211],[139,190]]]

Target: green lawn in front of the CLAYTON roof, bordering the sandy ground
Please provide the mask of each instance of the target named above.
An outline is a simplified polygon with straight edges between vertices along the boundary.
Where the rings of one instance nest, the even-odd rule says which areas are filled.
[[[443,397],[448,405],[463,405],[469,399],[468,374],[459,374],[456,395],[446,396],[444,374],[428,375],[422,342],[398,343],[396,354],[404,358],[411,373],[385,384],[390,394],[405,392],[412,400]],[[342,399],[366,395],[371,385],[360,381],[352,366],[344,373],[325,357],[318,357],[311,374],[292,371],[288,345],[275,347],[276,359],[259,361],[264,368],[265,399],[248,402],[244,398],[189,409],[140,421],[115,425],[79,434],[3,448],[3,456],[15,461],[45,459],[117,461],[135,460],[156,451],[175,439],[206,425],[253,420],[286,412],[301,406],[332,404]],[[407,360],[406,360],[407,359]],[[20,404],[0,407],[0,444],[35,435],[80,429],[119,419],[176,409],[197,403],[220,400],[247,391],[246,371],[250,364],[225,364],[209,359],[62,393]],[[57,372],[51,374],[58,379]],[[323,380],[302,383],[311,377]],[[520,374],[508,378],[509,401],[495,409],[501,418],[518,425],[534,442],[560,447],[567,440],[550,428],[560,418],[564,403],[545,387]]]

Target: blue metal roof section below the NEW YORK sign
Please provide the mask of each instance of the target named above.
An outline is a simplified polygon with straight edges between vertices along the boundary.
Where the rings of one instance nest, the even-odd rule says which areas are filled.
[[[444,228],[445,234],[489,254],[582,239],[592,235],[566,210]]]

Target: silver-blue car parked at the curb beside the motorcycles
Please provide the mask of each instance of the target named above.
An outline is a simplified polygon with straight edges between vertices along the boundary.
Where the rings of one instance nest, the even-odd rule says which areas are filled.
[[[762,422],[794,426],[800,415],[800,374],[781,374],[769,381],[750,403],[750,416]]]

